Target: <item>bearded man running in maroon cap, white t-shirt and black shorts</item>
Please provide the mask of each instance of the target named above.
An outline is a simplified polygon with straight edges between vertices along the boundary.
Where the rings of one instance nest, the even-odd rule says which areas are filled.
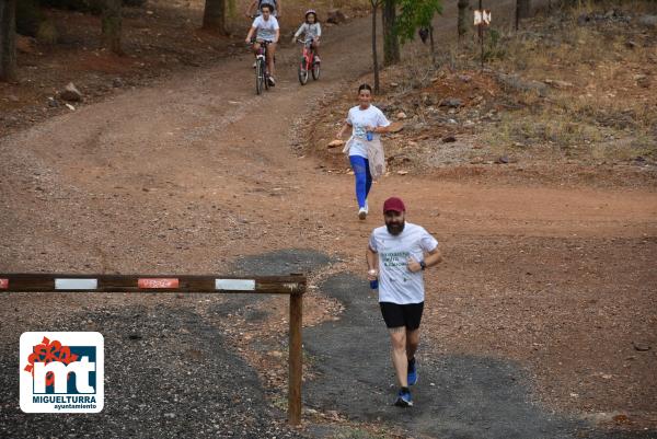
[[[368,279],[379,280],[379,305],[392,343],[392,365],[400,391],[395,405],[413,406],[410,385],[417,383],[415,351],[424,309],[423,272],[442,261],[438,241],[424,228],[405,222],[396,197],[383,203],[385,227],[374,229],[367,247]]]

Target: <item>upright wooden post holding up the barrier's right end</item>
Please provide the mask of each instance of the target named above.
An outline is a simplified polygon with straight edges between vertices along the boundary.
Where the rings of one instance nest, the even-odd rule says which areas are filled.
[[[290,294],[290,346],[288,378],[288,421],[301,423],[301,377],[303,373],[301,324],[303,314],[303,294]]]

